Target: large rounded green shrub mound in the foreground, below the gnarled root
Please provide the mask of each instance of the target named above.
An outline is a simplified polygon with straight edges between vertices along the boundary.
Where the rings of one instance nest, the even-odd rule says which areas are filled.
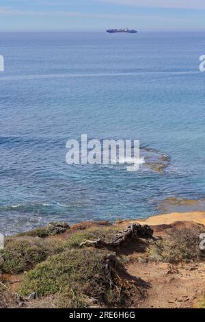
[[[29,271],[21,285],[20,294],[28,296],[35,292],[38,297],[47,297],[61,293],[63,301],[60,301],[59,306],[64,303],[64,297],[69,307],[73,303],[78,307],[85,306],[85,297],[96,299],[99,304],[119,305],[123,298],[123,288],[115,282],[118,280],[115,273],[117,262],[113,253],[100,249],[65,251],[47,258]]]

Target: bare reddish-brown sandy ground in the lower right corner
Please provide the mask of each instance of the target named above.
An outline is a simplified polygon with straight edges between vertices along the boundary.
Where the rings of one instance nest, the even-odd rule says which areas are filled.
[[[138,301],[138,308],[194,308],[204,295],[205,263],[172,265],[140,264],[126,267],[133,277],[150,284],[147,296]]]

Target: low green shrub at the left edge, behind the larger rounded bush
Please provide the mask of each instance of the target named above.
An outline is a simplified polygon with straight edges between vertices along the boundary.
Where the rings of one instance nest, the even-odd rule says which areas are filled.
[[[63,243],[57,240],[42,240],[33,237],[7,238],[4,250],[1,251],[0,271],[22,273],[32,269],[49,255],[63,250]]]

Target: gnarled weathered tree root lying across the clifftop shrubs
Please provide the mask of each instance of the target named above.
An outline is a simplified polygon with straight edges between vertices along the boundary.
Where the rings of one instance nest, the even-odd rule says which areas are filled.
[[[138,238],[152,238],[153,230],[148,225],[140,225],[139,223],[132,223],[122,232],[118,232],[112,240],[102,240],[100,238],[96,240],[85,240],[80,246],[87,247],[118,247],[128,238],[138,239]]]

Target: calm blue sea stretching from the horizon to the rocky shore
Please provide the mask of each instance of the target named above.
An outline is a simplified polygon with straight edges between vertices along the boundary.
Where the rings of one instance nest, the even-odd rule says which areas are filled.
[[[0,34],[0,231],[50,221],[146,218],[204,197],[205,34]],[[74,165],[66,141],[139,139],[143,165]]]

